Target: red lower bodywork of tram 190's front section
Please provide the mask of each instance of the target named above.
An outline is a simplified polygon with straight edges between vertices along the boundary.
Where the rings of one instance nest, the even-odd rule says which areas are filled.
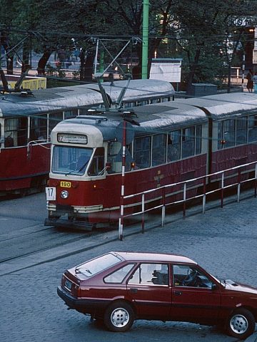
[[[156,192],[146,195],[146,207],[153,207],[162,202],[163,190],[158,191],[158,187],[168,185],[174,182],[183,182],[192,177],[201,177],[206,174],[207,155],[198,155],[178,162],[173,162],[158,167],[151,167],[145,170],[133,170],[126,172],[124,180],[125,195],[136,194],[150,189],[156,189]],[[67,189],[67,184],[69,189]],[[69,219],[81,220],[96,224],[99,222],[117,222],[120,215],[121,204],[121,173],[106,175],[99,179],[78,181],[69,180],[67,177],[59,180],[51,179],[50,187],[56,188],[56,201],[49,201],[50,217],[59,219],[61,215],[68,215]],[[62,198],[61,192],[69,190],[69,197]],[[195,196],[197,193],[197,184],[191,184],[191,190],[188,190],[187,196]],[[171,199],[183,199],[183,187],[168,188],[166,190],[166,202]],[[132,200],[124,202],[125,214],[140,211],[141,195],[133,197]],[[72,224],[72,222],[70,222]]]

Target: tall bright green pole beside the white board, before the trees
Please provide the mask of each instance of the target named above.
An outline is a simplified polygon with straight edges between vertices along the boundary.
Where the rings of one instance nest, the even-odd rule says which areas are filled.
[[[143,0],[143,46],[142,46],[142,79],[148,74],[148,23],[149,23],[149,0]]]

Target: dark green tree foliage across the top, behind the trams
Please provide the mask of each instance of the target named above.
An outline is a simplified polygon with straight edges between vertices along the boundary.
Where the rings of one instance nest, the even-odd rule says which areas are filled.
[[[25,63],[29,44],[41,53],[39,73],[44,73],[53,51],[81,48],[82,78],[90,74],[96,46],[91,37],[106,40],[111,54],[133,36],[142,35],[141,0],[1,0],[1,45],[6,52],[27,36],[22,44]],[[149,1],[149,67],[151,58],[183,58],[183,79],[213,82],[228,76],[238,63],[238,51],[249,41],[238,19],[256,24],[257,1],[246,0],[156,0]],[[109,39],[109,41],[108,41]],[[141,43],[131,51],[141,65]],[[106,61],[110,56],[105,55]],[[9,60],[14,51],[9,53]],[[109,59],[110,61],[110,59]],[[87,72],[88,71],[88,72]]]

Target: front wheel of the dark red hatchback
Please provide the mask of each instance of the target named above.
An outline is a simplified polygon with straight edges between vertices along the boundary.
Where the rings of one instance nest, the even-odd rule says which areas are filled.
[[[241,340],[250,336],[255,329],[253,314],[247,309],[238,309],[228,318],[228,334]]]

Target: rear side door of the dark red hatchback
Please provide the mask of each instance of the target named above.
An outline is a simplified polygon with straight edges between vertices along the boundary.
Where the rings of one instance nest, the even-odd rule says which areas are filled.
[[[139,264],[127,282],[127,294],[140,318],[169,317],[171,281],[168,264]]]

